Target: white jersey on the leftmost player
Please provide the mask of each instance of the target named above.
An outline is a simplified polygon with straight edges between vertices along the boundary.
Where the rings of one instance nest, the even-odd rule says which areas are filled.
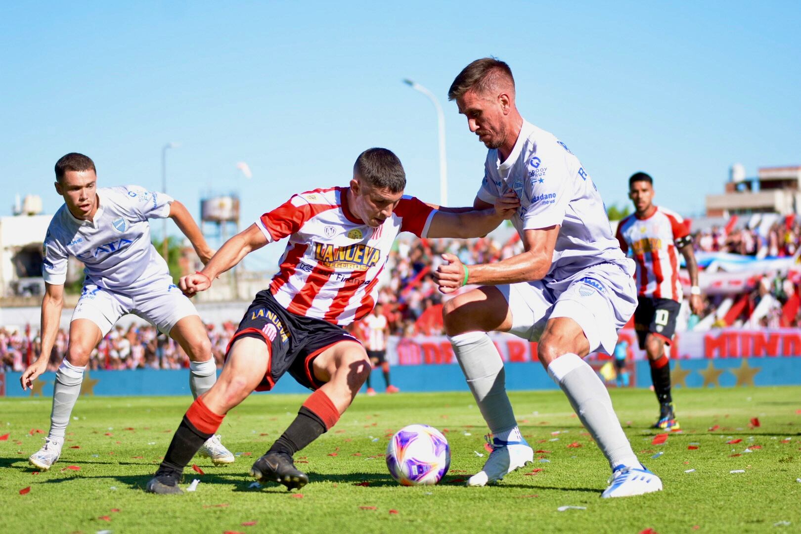
[[[65,282],[69,256],[83,262],[87,283],[113,291],[138,292],[154,278],[169,276],[151,244],[147,219],[170,215],[172,198],[139,186],[103,187],[97,195],[94,221],[76,219],[66,204],[50,221],[42,245],[45,282]]]

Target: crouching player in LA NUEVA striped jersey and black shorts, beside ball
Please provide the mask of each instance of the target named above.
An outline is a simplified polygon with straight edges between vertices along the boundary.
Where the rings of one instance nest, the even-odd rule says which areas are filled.
[[[375,305],[376,284],[396,235],[477,237],[518,205],[506,197],[495,209],[444,213],[404,196],[405,186],[397,156],[384,148],[368,149],[356,159],[349,187],[293,195],[229,239],[203,271],[181,279],[188,293],[205,291],[250,252],[288,238],[280,271],[245,312],[219,380],[183,416],[148,492],[181,493],[183,468],[225,414],[254,389],[272,389],[286,372],[313,393],[256,460],[251,475],[288,489],[308,483],[292,455],[336,424],[371,371],[364,347],[343,327]]]

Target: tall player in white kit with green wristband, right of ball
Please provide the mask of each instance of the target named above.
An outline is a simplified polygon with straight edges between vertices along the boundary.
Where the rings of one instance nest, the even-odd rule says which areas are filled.
[[[470,63],[448,96],[489,148],[474,206],[489,207],[513,191],[521,207],[512,223],[525,246],[491,264],[467,266],[445,254],[435,275],[444,293],[480,286],[443,309],[445,331],[492,432],[493,452],[468,484],[497,482],[533,460],[506,395],[501,356],[486,334],[509,331],[538,341],[537,357],[609,460],[602,496],[661,490],[662,481],[634,456],[606,387],[582,359],[592,351],[611,354],[636,306],[634,262],[618,247],[590,175],[565,143],[521,117],[505,62]]]

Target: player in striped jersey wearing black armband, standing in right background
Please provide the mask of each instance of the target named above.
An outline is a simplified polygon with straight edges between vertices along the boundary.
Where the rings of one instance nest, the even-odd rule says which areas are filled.
[[[650,175],[644,172],[631,175],[629,198],[634,203],[634,213],[618,224],[617,238],[622,251],[637,262],[634,329],[640,349],[645,349],[648,355],[651,381],[659,402],[659,419],[654,428],[678,430],[665,345],[673,339],[682,303],[678,252],[684,256],[690,273],[690,310],[700,314],[703,308],[693,239],[681,216],[654,206],[654,180]]]

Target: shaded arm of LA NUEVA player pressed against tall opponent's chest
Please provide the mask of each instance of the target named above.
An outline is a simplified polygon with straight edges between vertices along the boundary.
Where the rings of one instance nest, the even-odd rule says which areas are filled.
[[[495,201],[495,205],[476,200],[473,209],[445,208],[439,210],[431,220],[431,227],[426,237],[451,237],[469,239],[483,237],[495,230],[505,219],[511,219],[520,207],[514,191],[507,191]],[[451,210],[451,211],[449,211]]]

